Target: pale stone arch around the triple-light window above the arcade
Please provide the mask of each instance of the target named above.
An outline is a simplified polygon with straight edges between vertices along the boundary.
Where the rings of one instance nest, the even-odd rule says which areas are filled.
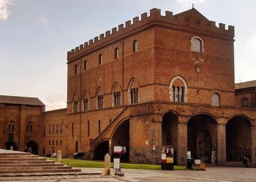
[[[173,90],[175,88],[182,88],[183,87],[183,92],[181,92],[182,90]],[[178,94],[182,95],[182,98],[180,99],[180,102],[184,102],[187,103],[187,82],[185,81],[184,78],[182,78],[181,76],[175,76],[173,77],[173,79],[170,81],[170,101],[175,102],[175,98],[176,98],[176,92],[179,92]]]

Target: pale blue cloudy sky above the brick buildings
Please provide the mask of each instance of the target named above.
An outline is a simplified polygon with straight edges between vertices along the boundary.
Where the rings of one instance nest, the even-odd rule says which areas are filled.
[[[255,0],[0,0],[0,95],[67,106],[67,52],[153,8],[235,26],[235,80],[256,80]]]

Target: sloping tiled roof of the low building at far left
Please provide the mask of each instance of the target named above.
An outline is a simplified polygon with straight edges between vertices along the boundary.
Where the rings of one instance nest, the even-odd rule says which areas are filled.
[[[24,104],[32,106],[45,106],[38,98],[26,98],[18,96],[0,95],[0,103]]]

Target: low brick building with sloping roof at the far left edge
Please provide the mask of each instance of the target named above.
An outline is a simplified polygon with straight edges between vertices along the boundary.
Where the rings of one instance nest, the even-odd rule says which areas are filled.
[[[38,98],[0,95],[0,143],[2,149],[29,151],[42,149],[42,112],[45,104]],[[39,135],[38,135],[39,134]]]

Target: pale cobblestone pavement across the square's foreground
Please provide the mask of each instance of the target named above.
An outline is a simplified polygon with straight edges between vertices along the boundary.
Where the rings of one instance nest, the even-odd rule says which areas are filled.
[[[88,173],[104,173],[102,168],[82,168]],[[114,175],[115,170],[110,170],[110,175],[50,175],[31,177],[1,177],[0,181],[45,181],[45,182],[160,182],[160,181],[256,181],[256,169],[244,167],[206,167],[205,171],[197,170],[131,170],[123,169],[124,176]]]

